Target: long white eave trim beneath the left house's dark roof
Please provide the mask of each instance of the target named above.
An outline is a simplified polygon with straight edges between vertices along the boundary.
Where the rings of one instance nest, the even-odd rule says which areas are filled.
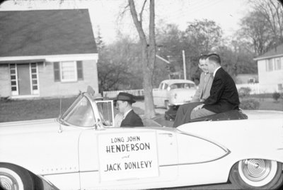
[[[45,62],[58,62],[70,60],[98,60],[98,53],[0,57],[0,64],[12,61],[17,62],[25,60],[45,60]]]

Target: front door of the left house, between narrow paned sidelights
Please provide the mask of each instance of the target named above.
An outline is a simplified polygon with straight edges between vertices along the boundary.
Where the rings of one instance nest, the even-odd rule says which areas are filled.
[[[30,65],[18,64],[18,92],[19,95],[30,95]]]

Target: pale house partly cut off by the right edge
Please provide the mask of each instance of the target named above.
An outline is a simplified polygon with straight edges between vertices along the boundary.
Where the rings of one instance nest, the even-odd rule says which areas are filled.
[[[255,57],[261,93],[283,92],[283,44]]]

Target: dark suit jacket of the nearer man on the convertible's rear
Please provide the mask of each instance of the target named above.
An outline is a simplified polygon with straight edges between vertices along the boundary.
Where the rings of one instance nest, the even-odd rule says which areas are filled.
[[[214,113],[238,109],[240,104],[238,90],[232,77],[220,67],[214,76],[210,96],[204,101],[203,108]]]

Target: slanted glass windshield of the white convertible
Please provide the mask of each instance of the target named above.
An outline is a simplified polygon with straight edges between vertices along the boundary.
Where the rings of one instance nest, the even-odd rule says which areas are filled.
[[[62,118],[64,123],[81,127],[93,127],[96,124],[91,102],[86,96],[79,96],[70,108]]]

